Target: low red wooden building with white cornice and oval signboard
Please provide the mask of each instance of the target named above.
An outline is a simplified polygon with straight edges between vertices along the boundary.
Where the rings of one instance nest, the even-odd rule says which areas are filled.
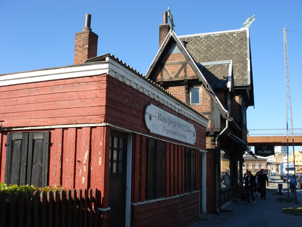
[[[98,188],[103,226],[194,221],[208,119],[95,45],[88,24],[77,65],[0,75],[0,181]]]

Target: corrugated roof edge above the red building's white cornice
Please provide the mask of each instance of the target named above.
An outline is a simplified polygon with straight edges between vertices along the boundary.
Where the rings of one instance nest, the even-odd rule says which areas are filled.
[[[184,104],[185,106],[187,106],[189,109],[193,110],[194,112],[200,114],[202,117],[204,117],[205,119],[209,120],[207,117],[205,117],[202,113],[200,113],[199,111],[195,110],[194,108],[192,108],[191,106],[189,106],[188,104],[186,104],[185,102],[183,102],[182,100],[180,100],[179,98],[175,97],[173,94],[171,94],[169,91],[163,89],[162,87],[160,87],[158,84],[156,84],[155,82],[152,82],[151,80],[147,79],[143,74],[141,74],[139,71],[137,71],[136,69],[130,67],[129,65],[127,65],[125,62],[121,61],[120,59],[118,59],[117,57],[115,57],[113,54],[107,53],[107,54],[103,54],[100,56],[97,56],[95,58],[90,58],[88,60],[86,60],[84,62],[84,64],[87,63],[96,63],[99,61],[106,61],[106,58],[111,58],[112,60],[114,60],[115,62],[117,62],[118,64],[122,65],[123,67],[127,68],[128,70],[130,70],[131,72],[133,72],[134,74],[138,75],[140,78],[142,78],[145,81],[148,81],[148,83],[152,84],[154,87],[156,87],[159,90],[162,90],[164,92],[166,92],[167,94],[169,94],[171,97],[173,97],[175,100],[177,100],[178,102]]]

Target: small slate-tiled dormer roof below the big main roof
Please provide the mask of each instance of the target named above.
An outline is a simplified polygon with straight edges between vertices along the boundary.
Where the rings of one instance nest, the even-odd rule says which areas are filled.
[[[211,87],[225,88],[228,82],[229,65],[230,64],[199,66],[199,69],[207,78]]]

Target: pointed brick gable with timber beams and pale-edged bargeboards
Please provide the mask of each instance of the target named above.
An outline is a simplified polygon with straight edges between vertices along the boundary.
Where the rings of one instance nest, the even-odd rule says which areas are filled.
[[[184,100],[185,103],[189,103],[190,86],[202,85],[207,96],[213,99],[213,104],[217,106],[220,115],[229,121],[233,121],[230,113],[223,107],[210,83],[204,77],[198,64],[186,50],[185,45],[186,42],[182,43],[175,32],[170,30],[150,65],[146,77],[165,89],[169,86],[184,86],[184,97],[173,94]]]

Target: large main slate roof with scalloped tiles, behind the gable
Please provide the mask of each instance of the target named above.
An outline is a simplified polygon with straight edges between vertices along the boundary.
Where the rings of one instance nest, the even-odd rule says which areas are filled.
[[[235,86],[249,86],[247,31],[180,36],[197,63],[233,60]],[[217,75],[217,74],[216,74]]]

